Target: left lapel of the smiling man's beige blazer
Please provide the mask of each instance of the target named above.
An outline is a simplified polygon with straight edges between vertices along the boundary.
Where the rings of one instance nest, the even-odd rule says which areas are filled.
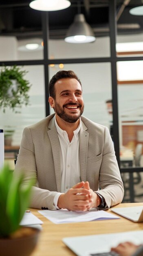
[[[60,145],[59,145],[57,130],[55,128],[54,118],[50,121],[48,128],[50,128],[50,130],[48,130],[48,136],[51,142],[51,147],[53,152],[57,191],[60,192],[61,191]]]

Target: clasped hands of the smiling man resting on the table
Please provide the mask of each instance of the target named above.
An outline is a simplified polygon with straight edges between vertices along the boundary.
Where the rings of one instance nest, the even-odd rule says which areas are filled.
[[[59,196],[57,206],[69,211],[89,211],[100,204],[99,196],[90,189],[89,182],[79,182]],[[98,203],[97,203],[98,202]]]

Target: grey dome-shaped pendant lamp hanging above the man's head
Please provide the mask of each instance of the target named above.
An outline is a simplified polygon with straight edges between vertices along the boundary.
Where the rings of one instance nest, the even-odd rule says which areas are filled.
[[[70,25],[64,40],[67,43],[90,43],[95,41],[94,32],[86,22],[84,14],[75,15],[74,22]]]

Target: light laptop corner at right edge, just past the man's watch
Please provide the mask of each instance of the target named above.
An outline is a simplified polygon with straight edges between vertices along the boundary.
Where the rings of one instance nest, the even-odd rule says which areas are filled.
[[[143,206],[112,208],[110,210],[133,222],[143,222]]]

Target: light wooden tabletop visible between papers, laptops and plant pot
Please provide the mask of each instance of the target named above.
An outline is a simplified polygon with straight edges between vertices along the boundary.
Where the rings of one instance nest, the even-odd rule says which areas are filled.
[[[132,206],[143,206],[143,203],[119,204],[116,207]],[[68,236],[87,236],[143,230],[143,222],[134,223],[122,217],[115,220],[54,224],[38,213],[37,209],[31,209],[31,211],[44,222],[39,242],[31,256],[75,256],[75,254],[62,242],[62,238]],[[112,213],[110,209],[108,212]]]

